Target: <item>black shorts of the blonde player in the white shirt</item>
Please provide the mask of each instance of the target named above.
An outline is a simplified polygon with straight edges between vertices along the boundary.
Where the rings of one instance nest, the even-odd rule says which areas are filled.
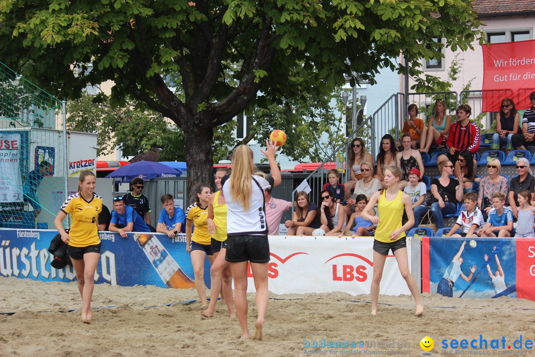
[[[231,236],[227,238],[227,262],[269,262],[268,236]]]

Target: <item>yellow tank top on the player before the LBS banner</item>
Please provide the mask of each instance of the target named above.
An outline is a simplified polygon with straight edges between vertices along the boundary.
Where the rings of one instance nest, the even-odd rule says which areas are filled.
[[[380,242],[392,243],[395,240],[390,240],[390,234],[399,229],[403,224],[401,220],[403,218],[403,202],[401,200],[403,192],[399,191],[396,198],[392,201],[386,199],[386,190],[381,193],[379,202],[377,203],[377,211],[379,215],[379,224],[375,231],[375,239]],[[399,240],[405,237],[405,232],[401,232],[398,237]]]

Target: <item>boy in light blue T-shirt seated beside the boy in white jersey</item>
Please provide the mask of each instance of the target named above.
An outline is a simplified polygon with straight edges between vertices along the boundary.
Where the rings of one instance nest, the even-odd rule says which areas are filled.
[[[479,237],[513,237],[513,211],[505,207],[505,194],[492,194],[492,209],[488,212],[487,223],[477,231]]]

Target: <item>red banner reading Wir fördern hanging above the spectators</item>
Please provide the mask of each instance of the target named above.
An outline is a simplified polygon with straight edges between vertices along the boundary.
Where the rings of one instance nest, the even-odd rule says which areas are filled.
[[[529,109],[535,90],[535,40],[493,43],[483,49],[483,112],[498,112],[503,98]]]

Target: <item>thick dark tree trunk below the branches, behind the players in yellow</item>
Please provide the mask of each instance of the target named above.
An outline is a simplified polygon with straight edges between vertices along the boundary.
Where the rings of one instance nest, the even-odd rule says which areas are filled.
[[[200,125],[188,125],[184,132],[186,163],[188,168],[187,202],[192,204],[199,185],[214,188],[212,138],[213,129]]]

